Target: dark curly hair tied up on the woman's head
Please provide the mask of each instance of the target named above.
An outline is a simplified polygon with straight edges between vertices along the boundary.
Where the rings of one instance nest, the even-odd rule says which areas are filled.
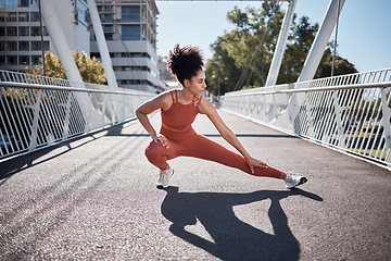
[[[184,85],[184,79],[191,79],[204,66],[200,48],[179,45],[174,47],[174,51],[168,54],[168,70]]]

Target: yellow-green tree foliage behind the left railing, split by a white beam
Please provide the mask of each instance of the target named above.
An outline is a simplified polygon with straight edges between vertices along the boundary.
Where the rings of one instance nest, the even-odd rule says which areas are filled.
[[[96,58],[90,59],[87,53],[79,53],[79,51],[72,51],[72,55],[85,83],[106,83],[103,64],[99,62]],[[45,66],[47,76],[66,79],[66,75],[60,62],[60,59],[58,59],[53,53],[47,52],[45,54]],[[35,75],[43,75],[42,59],[40,60],[40,64],[37,65],[37,67],[30,73]]]

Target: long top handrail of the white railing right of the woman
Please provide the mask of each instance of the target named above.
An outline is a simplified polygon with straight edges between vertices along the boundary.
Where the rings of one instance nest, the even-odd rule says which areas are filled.
[[[369,88],[388,88],[391,87],[391,82],[370,83],[370,84],[351,84],[351,85],[336,85],[327,87],[307,87],[299,89],[286,89],[286,90],[257,90],[249,92],[228,92],[229,96],[251,96],[251,95],[275,95],[275,94],[290,94],[290,92],[308,92],[308,91],[323,91],[323,90],[339,90],[339,89],[369,89]]]

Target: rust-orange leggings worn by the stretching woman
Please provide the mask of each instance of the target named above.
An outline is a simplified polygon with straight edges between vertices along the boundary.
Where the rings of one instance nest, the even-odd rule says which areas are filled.
[[[154,142],[152,140],[146,149],[148,160],[162,171],[167,167],[167,160],[184,156],[218,162],[227,166],[239,169],[254,176],[280,178],[281,171],[272,166],[267,169],[256,166],[254,167],[254,173],[251,173],[250,167],[242,156],[226,149],[222,145],[202,135],[195,134],[182,140],[168,139],[168,145],[169,148],[167,149],[163,147],[161,142]]]

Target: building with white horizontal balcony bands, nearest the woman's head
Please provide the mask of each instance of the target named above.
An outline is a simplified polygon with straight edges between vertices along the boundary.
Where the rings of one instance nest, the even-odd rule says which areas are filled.
[[[165,88],[156,54],[154,1],[96,1],[118,86],[152,90]],[[91,57],[100,58],[91,34]]]

